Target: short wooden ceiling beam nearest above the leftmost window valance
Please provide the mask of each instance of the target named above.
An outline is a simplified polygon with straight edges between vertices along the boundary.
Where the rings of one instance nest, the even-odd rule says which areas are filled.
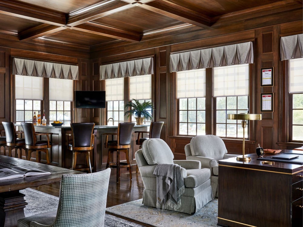
[[[55,25],[42,24],[36,27],[30,28],[25,31],[19,32],[20,41],[29,41],[35,38],[39,38],[44,35],[49,35],[57,31],[69,28],[68,26],[58,27]]]

